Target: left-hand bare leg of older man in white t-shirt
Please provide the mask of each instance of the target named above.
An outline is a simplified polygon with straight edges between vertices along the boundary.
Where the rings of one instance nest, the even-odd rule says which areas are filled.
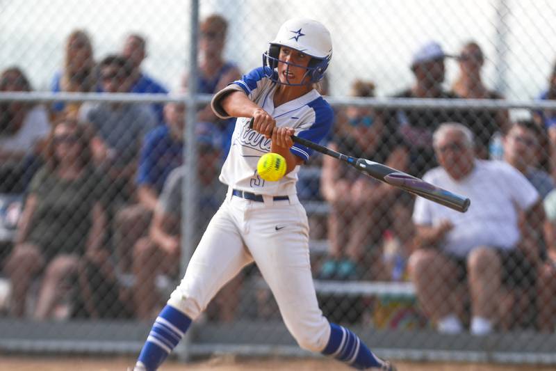
[[[461,322],[457,314],[462,312],[463,300],[457,297],[458,271],[454,261],[432,249],[420,249],[409,258],[409,274],[425,315],[437,324],[446,319],[453,324],[446,329],[439,324],[441,331],[460,331]]]

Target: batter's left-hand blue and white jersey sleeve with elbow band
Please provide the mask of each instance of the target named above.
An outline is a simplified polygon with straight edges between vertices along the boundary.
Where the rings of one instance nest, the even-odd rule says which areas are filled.
[[[255,68],[248,74],[244,74],[241,79],[236,80],[216,93],[211,101],[211,107],[216,116],[222,119],[231,118],[229,114],[222,109],[222,98],[234,91],[243,91],[250,100],[256,101],[261,94],[263,86],[270,82],[269,76],[272,73],[270,68]]]

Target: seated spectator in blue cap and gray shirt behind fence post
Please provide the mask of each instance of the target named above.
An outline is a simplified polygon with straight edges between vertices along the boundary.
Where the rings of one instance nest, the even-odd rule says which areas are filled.
[[[218,181],[221,164],[218,129],[208,123],[196,127],[199,161],[197,163],[198,194],[197,214],[194,230],[205,230],[208,221],[220,207],[226,195],[226,187]],[[177,278],[181,252],[181,196],[186,168],[175,168],[167,177],[161,196],[158,198],[149,235],[136,243],[133,251],[133,273],[136,286],[133,288],[136,315],[150,319],[158,313],[158,293],[155,278],[166,274]],[[192,221],[193,222],[193,221]],[[224,291],[226,289],[224,288]],[[237,292],[225,295],[222,303],[222,319],[232,319],[237,301]]]

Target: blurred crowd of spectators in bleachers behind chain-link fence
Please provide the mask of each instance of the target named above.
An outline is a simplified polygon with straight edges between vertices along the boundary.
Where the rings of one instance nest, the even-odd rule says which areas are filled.
[[[224,57],[225,15],[204,17],[199,31],[198,89],[212,94],[248,71]],[[145,71],[150,45],[142,33],[129,33],[106,55],[95,52],[85,29],[65,35],[64,45],[52,92],[188,91],[186,69],[175,77],[177,89]],[[400,61],[413,82],[389,97],[505,100],[484,82],[488,56],[474,40],[452,53],[436,40],[413,50]],[[448,59],[458,67],[451,81]],[[544,68],[551,70],[545,88],[530,99],[556,101],[556,64]],[[0,92],[34,90],[21,66],[0,61],[0,70]],[[352,97],[375,97],[373,79],[349,79]],[[327,80],[316,88],[330,93]],[[516,119],[505,109],[471,106],[335,110],[329,148],[475,197],[468,214],[439,210],[315,155],[298,182],[315,278],[415,287],[409,301],[320,295],[325,314],[444,333],[554,331],[556,111]],[[0,102],[0,276],[10,287],[2,315],[150,321],[158,313],[179,279],[181,196],[190,175],[183,168],[185,117],[181,103]],[[218,175],[233,129],[234,120],[199,107],[197,230],[225,196]],[[208,320],[234,320],[238,292],[257,275],[250,267],[224,287]],[[258,290],[252,315],[277,315],[269,295]]]

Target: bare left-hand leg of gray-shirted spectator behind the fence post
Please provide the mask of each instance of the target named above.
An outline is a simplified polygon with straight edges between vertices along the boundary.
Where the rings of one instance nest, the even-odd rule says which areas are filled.
[[[155,280],[164,255],[148,237],[139,239],[133,248],[133,302],[139,319],[152,319],[154,315],[159,299]]]

